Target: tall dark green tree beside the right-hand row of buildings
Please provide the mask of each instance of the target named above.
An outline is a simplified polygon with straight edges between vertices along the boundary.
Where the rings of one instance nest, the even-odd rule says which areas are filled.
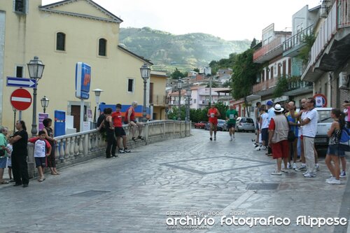
[[[260,71],[260,64],[253,62],[253,50],[248,49],[237,55],[232,73],[232,97],[244,98],[246,113],[248,113],[248,101],[246,97],[251,94],[251,88],[256,83],[256,74]]]

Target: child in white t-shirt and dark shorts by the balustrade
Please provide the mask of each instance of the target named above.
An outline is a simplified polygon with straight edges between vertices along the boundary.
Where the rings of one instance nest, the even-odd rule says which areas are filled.
[[[43,174],[46,167],[46,156],[51,154],[51,145],[45,139],[45,136],[45,132],[41,130],[38,132],[38,137],[28,140],[30,143],[34,143],[34,160],[40,176],[38,179],[39,182],[45,181]],[[46,148],[48,149],[48,153],[46,153]]]

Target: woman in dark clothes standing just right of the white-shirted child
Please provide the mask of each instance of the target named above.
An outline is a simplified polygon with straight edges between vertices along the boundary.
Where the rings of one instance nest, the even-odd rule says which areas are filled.
[[[55,156],[55,144],[57,141],[53,138],[53,129],[51,128],[52,120],[50,118],[45,118],[43,120],[43,132],[45,132],[45,139],[48,140],[51,146],[51,153],[48,156],[48,167],[50,168],[51,175],[59,175],[56,169],[56,156]]]

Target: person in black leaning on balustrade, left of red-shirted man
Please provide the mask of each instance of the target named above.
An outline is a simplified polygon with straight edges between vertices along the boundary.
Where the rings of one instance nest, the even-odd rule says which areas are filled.
[[[104,127],[107,136],[106,158],[116,157],[117,141],[114,136],[114,127],[112,122],[112,108],[104,108],[104,121],[99,125],[99,129]]]

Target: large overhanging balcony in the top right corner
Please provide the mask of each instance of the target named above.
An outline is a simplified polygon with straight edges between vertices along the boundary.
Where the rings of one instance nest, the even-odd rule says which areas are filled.
[[[335,71],[349,57],[350,50],[350,0],[338,0],[332,5],[321,24],[309,64],[302,80],[314,82],[326,71]]]

